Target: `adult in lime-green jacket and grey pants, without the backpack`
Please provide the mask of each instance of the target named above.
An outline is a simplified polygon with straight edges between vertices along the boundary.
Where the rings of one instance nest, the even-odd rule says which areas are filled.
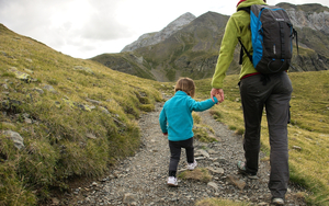
[[[215,94],[220,95],[219,102],[224,101],[223,82],[239,39],[252,55],[250,14],[241,10],[252,4],[266,5],[263,0],[240,0],[237,12],[227,22],[211,91],[212,98]],[[261,118],[265,106],[271,147],[269,190],[272,204],[283,205],[290,180],[287,123],[292,82],[285,71],[263,75],[256,70],[246,53],[241,58],[239,88],[245,119],[246,160],[239,161],[237,167],[249,179],[258,179]]]

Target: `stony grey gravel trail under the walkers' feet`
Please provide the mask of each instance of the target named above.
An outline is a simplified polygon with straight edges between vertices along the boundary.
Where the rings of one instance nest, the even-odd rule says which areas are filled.
[[[178,187],[168,187],[169,146],[161,133],[159,114],[163,103],[157,103],[154,112],[141,115],[141,146],[134,157],[121,161],[106,176],[77,185],[63,198],[53,199],[53,205],[195,205],[208,197],[248,201],[252,205],[270,205],[268,188],[270,165],[261,153],[259,180],[249,180],[238,174],[236,163],[243,160],[242,137],[227,126],[216,122],[208,111],[198,113],[202,122],[211,126],[218,141],[203,144],[194,140],[195,159],[198,168],[208,169],[208,183],[195,180],[180,180]],[[186,165],[184,150],[179,170]],[[306,205],[300,188],[290,184],[286,194],[288,206]]]

